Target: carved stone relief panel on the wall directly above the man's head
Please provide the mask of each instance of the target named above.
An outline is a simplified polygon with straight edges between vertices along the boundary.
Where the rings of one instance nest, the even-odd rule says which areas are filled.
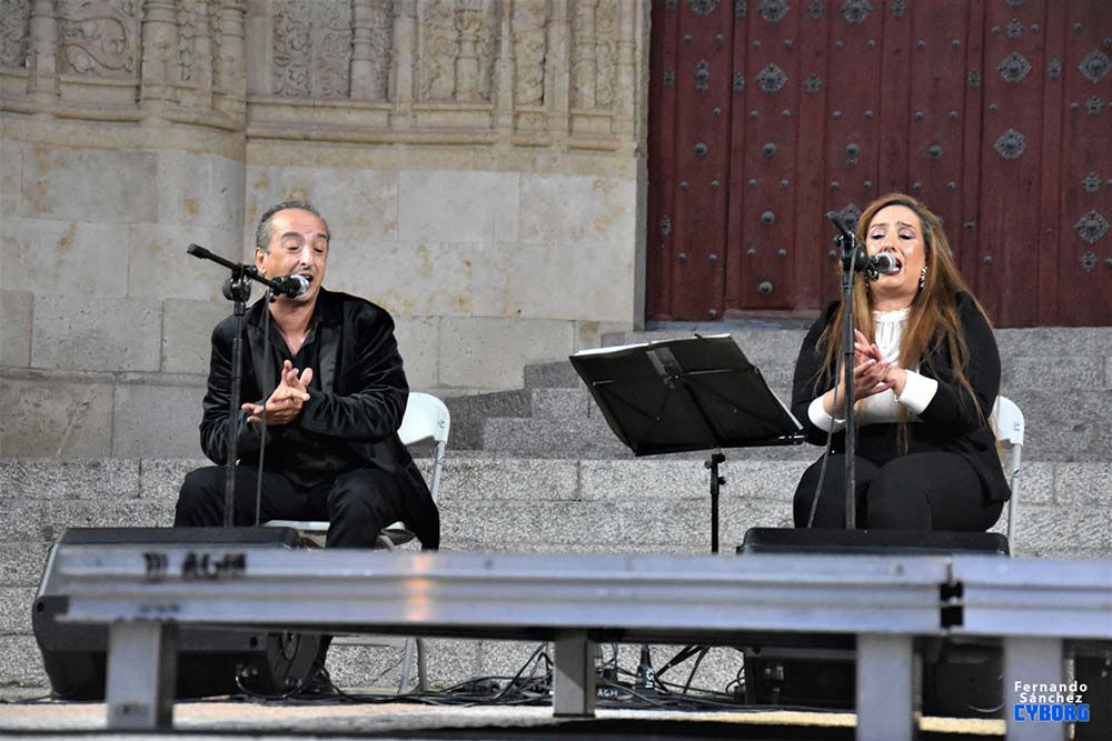
[[[274,93],[346,98],[351,62],[349,0],[274,0],[271,11]]]

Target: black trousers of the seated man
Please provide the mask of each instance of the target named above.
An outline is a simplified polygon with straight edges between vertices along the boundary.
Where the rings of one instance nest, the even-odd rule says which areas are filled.
[[[178,493],[175,527],[224,524],[222,465],[190,471]],[[235,524],[255,524],[258,469],[236,469]],[[378,531],[401,519],[401,492],[389,474],[356,469],[312,487],[298,485],[281,471],[262,472],[259,522],[327,520],[329,548],[374,548]]]

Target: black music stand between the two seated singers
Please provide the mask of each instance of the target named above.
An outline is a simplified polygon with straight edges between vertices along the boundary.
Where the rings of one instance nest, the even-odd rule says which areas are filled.
[[[803,427],[728,334],[585,350],[572,367],[635,455],[712,450],[711,552],[718,552],[723,448],[795,445]]]

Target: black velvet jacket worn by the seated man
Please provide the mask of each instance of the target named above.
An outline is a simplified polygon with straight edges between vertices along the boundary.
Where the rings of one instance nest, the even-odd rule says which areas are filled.
[[[256,301],[246,316],[247,337],[242,344],[240,399],[262,403],[259,379],[274,383],[276,373],[264,347],[266,300]],[[409,451],[398,439],[397,430],[405,414],[409,385],[401,367],[401,356],[394,339],[394,320],[374,303],[346,293],[320,290],[316,321],[320,342],[320,368],[314,368],[321,392],[310,389],[301,413],[289,424],[320,440],[321,444],[346,447],[349,458],[395,477],[405,501],[405,523],[425,548],[437,548],[440,518],[425,480]],[[227,458],[228,398],[231,389],[231,356],[236,320],[229,317],[212,330],[212,358],[208,392],[201,418],[201,450],[216,463]],[[315,379],[315,380],[316,380]],[[267,447],[280,439],[282,427],[267,430]],[[241,461],[258,460],[260,425],[247,423],[247,413],[238,418],[238,455]],[[279,470],[280,460],[266,459],[270,470]]]

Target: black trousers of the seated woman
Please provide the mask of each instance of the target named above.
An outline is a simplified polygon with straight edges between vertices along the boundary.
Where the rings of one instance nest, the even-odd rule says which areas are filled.
[[[985,502],[984,485],[957,453],[923,452],[884,465],[857,457],[857,527],[881,530],[983,532],[1000,518],[1003,502]],[[822,459],[811,464],[795,490],[795,527],[807,527]],[[814,527],[845,527],[845,455],[831,455]]]

